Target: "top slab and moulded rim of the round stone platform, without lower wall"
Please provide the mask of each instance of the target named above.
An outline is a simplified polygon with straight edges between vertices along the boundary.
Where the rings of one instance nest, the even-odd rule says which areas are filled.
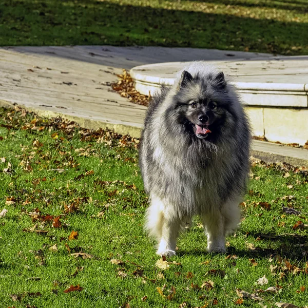
[[[308,106],[308,58],[307,60],[297,58],[294,60],[283,58],[281,60],[277,58],[276,61],[216,61],[209,63],[215,63],[217,67],[229,75],[239,92],[244,94],[243,102],[246,105]],[[130,75],[140,93],[148,94],[150,92],[153,94],[161,84],[173,85],[177,71],[185,64],[187,63],[168,62],[141,65],[132,68]],[[263,97],[259,96],[260,100],[255,100],[252,97],[247,98],[247,93],[262,94]],[[281,94],[287,96],[282,99]],[[270,95],[280,95],[280,97],[271,98]]]

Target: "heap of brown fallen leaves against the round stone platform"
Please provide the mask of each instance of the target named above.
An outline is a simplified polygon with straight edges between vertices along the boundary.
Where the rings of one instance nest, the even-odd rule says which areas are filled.
[[[114,91],[117,91],[122,97],[127,98],[132,103],[143,106],[149,105],[149,101],[151,99],[150,93],[149,95],[143,95],[139,93],[134,88],[133,80],[126,69],[123,69],[123,74],[117,76],[119,81],[117,83],[111,84],[111,87]]]

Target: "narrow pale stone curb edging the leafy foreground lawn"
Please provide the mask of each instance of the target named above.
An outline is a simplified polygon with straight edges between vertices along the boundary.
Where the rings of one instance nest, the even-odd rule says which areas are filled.
[[[1,107],[14,108],[10,102],[0,100]],[[81,127],[98,129],[100,127],[107,127],[113,129],[120,134],[129,134],[131,137],[140,138],[142,127],[129,126],[124,124],[114,124],[110,122],[96,121],[91,119],[84,119],[82,117],[74,117],[72,115],[63,114],[61,112],[45,111],[35,108],[18,105],[29,111],[35,112],[42,117],[52,118],[61,116],[65,119],[78,123]],[[301,148],[294,148],[290,146],[279,145],[271,142],[253,140],[253,148],[251,155],[266,163],[285,162],[293,166],[308,167],[308,150]]]

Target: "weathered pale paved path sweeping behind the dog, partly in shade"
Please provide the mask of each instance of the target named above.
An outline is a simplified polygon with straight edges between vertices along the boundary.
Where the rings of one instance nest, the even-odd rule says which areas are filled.
[[[166,61],[253,60],[269,57],[272,56],[164,47],[0,48],[0,102],[24,105],[44,115],[63,114],[85,127],[108,126],[137,137],[146,107],[130,103],[109,86],[110,82],[117,80],[115,74],[121,73],[122,68]],[[301,157],[296,164],[304,164],[304,157],[308,166],[308,151],[296,153],[292,157]]]

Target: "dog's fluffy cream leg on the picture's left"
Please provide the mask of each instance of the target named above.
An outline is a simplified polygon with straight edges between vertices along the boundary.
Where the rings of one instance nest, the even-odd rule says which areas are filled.
[[[151,204],[146,213],[145,229],[158,241],[158,255],[176,255],[180,218],[158,197],[151,196]]]

